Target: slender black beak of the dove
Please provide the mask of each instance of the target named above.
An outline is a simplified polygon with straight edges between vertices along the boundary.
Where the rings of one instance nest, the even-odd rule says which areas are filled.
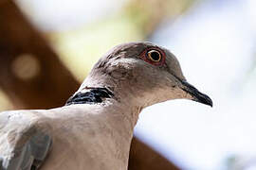
[[[192,95],[192,100],[205,104],[205,105],[209,105],[210,107],[212,107],[212,100],[210,99],[210,97],[204,93],[200,93],[197,89],[195,89],[195,87],[193,87],[190,83],[188,83],[187,81],[184,80],[180,80],[182,85],[184,87],[181,87],[181,89],[183,91],[185,91],[186,93],[190,93]]]

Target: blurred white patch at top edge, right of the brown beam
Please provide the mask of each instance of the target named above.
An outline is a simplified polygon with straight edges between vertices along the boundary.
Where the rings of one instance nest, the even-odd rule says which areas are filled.
[[[115,13],[126,0],[15,0],[29,8],[32,22],[44,30],[66,30]]]

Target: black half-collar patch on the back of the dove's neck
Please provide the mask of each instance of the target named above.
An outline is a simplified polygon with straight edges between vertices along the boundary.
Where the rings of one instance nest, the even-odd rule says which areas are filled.
[[[85,87],[87,92],[79,92],[72,95],[65,103],[65,106],[75,104],[97,104],[101,103],[104,98],[111,98],[114,93],[107,88]]]

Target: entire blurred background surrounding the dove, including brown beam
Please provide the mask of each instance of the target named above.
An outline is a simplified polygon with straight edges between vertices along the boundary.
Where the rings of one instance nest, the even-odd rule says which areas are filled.
[[[136,41],[169,48],[213,108],[143,110],[129,169],[255,170],[255,0],[1,0],[0,110],[64,105],[101,55]]]

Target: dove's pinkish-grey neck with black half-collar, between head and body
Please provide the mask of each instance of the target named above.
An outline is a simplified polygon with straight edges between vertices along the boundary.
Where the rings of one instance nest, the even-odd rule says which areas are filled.
[[[101,73],[101,72],[100,72]],[[129,120],[131,127],[137,124],[139,112],[145,108],[144,100],[139,98],[135,87],[127,80],[115,78],[109,74],[99,74],[95,70],[82,82],[78,92],[72,96],[68,104],[102,104],[105,108],[116,108],[119,114]]]

